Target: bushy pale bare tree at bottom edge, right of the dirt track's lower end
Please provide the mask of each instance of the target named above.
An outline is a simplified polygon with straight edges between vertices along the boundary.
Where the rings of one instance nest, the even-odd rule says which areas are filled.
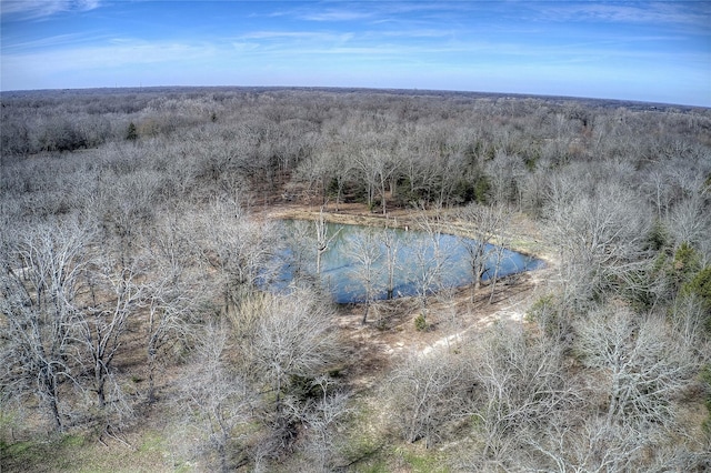
[[[471,345],[477,388],[470,409],[481,443],[470,461],[478,469],[507,467],[523,434],[535,436],[558,412],[577,409],[580,390],[564,372],[562,348],[521,326],[495,326]]]

